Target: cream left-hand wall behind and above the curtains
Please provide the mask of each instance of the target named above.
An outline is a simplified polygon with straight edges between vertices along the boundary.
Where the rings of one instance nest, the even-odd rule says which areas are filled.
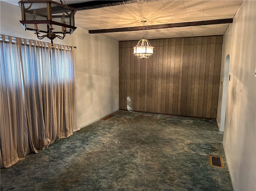
[[[0,1],[0,33],[37,39],[20,26],[18,6]],[[43,39],[48,41],[48,39]],[[77,28],[64,40],[54,43],[77,46],[74,49],[78,126],[84,127],[118,110],[118,41]]]

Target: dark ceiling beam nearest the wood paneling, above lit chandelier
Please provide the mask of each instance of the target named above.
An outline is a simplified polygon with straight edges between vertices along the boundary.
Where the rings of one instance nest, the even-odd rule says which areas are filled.
[[[184,22],[184,23],[170,23],[170,24],[145,26],[145,30],[174,28],[174,27],[215,25],[215,24],[228,24],[228,23],[232,23],[232,22],[233,22],[233,19],[231,18],[231,19],[218,19],[218,20],[195,21],[195,22]],[[89,33],[95,34],[95,33],[126,32],[126,31],[138,31],[138,30],[143,30],[143,26],[89,30]]]

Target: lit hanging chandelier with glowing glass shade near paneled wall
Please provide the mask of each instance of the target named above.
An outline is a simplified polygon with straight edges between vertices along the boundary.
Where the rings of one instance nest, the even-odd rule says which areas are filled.
[[[144,38],[145,33],[145,20],[141,21],[143,23],[143,38],[138,41],[137,45],[133,47],[133,55],[136,55],[138,58],[149,58],[153,54],[153,46],[150,42]]]

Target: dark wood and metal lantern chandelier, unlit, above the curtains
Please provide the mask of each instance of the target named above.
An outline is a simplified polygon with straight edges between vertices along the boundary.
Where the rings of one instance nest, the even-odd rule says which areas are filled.
[[[38,39],[47,37],[53,44],[53,39],[64,39],[66,34],[72,34],[75,27],[74,14],[76,10],[62,3],[51,0],[22,0],[19,2],[24,30],[34,31]],[[46,33],[40,35],[40,33]]]

